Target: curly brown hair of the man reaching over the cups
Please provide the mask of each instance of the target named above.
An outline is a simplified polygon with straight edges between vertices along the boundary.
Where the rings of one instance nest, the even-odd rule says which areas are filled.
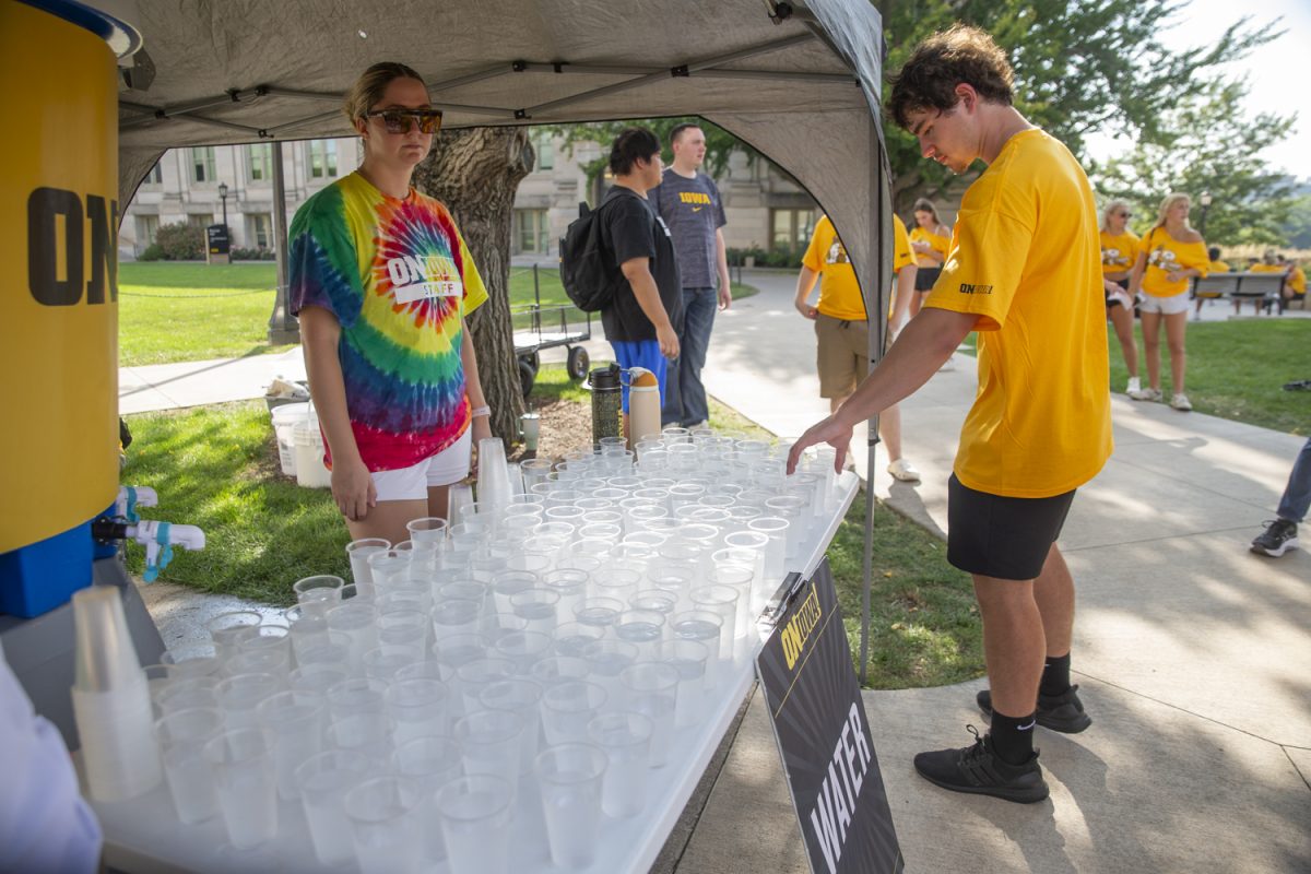
[[[1011,62],[992,37],[971,25],[956,24],[926,38],[891,77],[888,114],[901,127],[916,110],[956,106],[956,86],[974,86],[986,102],[1011,105],[1015,96]]]

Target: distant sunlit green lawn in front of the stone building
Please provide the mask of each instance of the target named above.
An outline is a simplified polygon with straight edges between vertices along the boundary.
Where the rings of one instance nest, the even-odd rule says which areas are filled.
[[[277,269],[267,262],[119,265],[118,363],[136,367],[286,350],[267,342],[277,282]],[[535,303],[534,284],[531,267],[511,269],[510,305]],[[539,269],[536,284],[543,307],[569,303],[558,270]],[[751,286],[733,286],[734,300],[755,292]],[[526,328],[520,321],[515,326]]]

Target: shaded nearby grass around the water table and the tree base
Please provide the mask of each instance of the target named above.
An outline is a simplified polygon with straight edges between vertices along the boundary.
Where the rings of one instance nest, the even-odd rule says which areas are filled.
[[[589,393],[562,367],[538,376],[534,397],[587,404]],[[349,578],[349,541],[332,495],[302,489],[278,466],[262,402],[128,417],[134,442],[123,482],[159,490],[161,518],[199,525],[206,548],[177,550],[165,582],[269,604],[294,603],[292,583],[311,574]],[[770,436],[712,398],[711,421],[725,432]],[[853,658],[860,651],[864,499],[829,550]],[[142,550],[128,570],[143,571]],[[956,683],[983,672],[981,625],[969,578],[947,563],[945,545],[923,528],[876,510],[871,688]]]

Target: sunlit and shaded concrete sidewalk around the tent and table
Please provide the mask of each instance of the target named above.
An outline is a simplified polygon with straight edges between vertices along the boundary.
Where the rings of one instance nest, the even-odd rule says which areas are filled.
[[[827,413],[814,333],[792,308],[792,274],[745,279],[760,294],[718,316],[707,387],[768,430],[800,434]],[[593,352],[608,347],[594,341]],[[274,375],[303,376],[299,362],[292,350],[121,371],[123,411],[258,397]],[[890,486],[886,460],[874,466],[876,493],[936,532],[974,397],[973,359],[954,362],[902,405],[923,482]],[[1040,735],[1051,799],[1008,805],[915,776],[915,752],[965,746],[965,725],[983,726],[982,680],[865,693],[909,871],[1311,870],[1311,554],[1247,550],[1303,439],[1122,396],[1113,414],[1116,455],[1080,489],[1062,539],[1093,726]],[[759,697],[683,826],[686,846],[666,848],[659,870],[808,870]]]

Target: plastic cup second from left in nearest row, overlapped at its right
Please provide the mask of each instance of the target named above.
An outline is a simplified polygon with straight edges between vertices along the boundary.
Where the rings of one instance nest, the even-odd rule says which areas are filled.
[[[346,793],[379,773],[384,764],[374,756],[346,750],[325,750],[296,768],[300,803],[309,826],[315,857],[321,865],[337,866],[355,861],[350,822],[346,819]]]

